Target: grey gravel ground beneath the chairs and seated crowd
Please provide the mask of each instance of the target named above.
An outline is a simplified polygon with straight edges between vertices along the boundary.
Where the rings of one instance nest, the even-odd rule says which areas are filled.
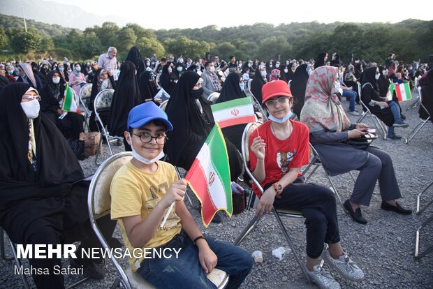
[[[411,101],[402,103],[403,110],[408,108],[410,103]],[[348,102],[344,101],[343,105],[344,108],[348,107]],[[361,110],[359,105],[357,105],[357,109]],[[419,121],[418,108],[404,111],[404,114],[407,117],[406,121],[411,126],[405,129],[396,129],[397,134],[402,136],[409,133]],[[348,116],[351,121],[357,119],[357,117]],[[364,122],[372,125],[371,119],[365,119]],[[404,207],[413,210],[416,209],[416,195],[432,179],[432,135],[433,127],[429,122],[409,144],[405,144],[404,139],[383,140],[379,138],[374,141],[376,147],[380,147],[392,156],[399,186],[404,195],[400,202]],[[123,151],[123,145],[114,147],[114,151],[115,153]],[[108,156],[108,148],[104,145],[103,158]],[[81,165],[85,175],[93,174],[97,168],[94,164],[94,156],[81,161]],[[353,181],[348,175],[334,179],[337,191],[339,191],[342,199],[346,200],[351,194]],[[330,186],[321,168],[311,178],[311,182]],[[432,198],[433,192],[430,188],[430,191],[423,198],[423,204]],[[193,197],[193,202],[198,203],[198,200]],[[433,255],[427,255],[422,260],[414,260],[413,258],[416,229],[433,214],[433,206],[420,216],[415,213],[411,216],[401,216],[381,210],[380,202],[379,188],[376,186],[370,207],[362,208],[363,216],[369,221],[367,225],[354,223],[344,213],[342,207],[337,207],[342,245],[357,265],[364,270],[365,279],[361,282],[346,281],[327,265],[325,268],[330,270],[342,288],[433,288]],[[191,209],[191,213],[203,232],[226,242],[234,242],[254,216],[252,210],[233,216],[233,218],[228,218],[226,214],[223,214],[223,223],[212,223],[209,228],[204,228],[198,211]],[[303,222],[293,218],[284,218],[283,221],[295,243],[296,250],[302,260],[305,260]],[[432,245],[433,224],[425,228],[422,234],[421,249],[423,250]],[[115,237],[122,239],[119,228],[115,230]],[[286,253],[282,260],[272,257],[272,249],[277,249],[280,246],[288,247],[274,216],[265,216],[240,246],[250,253],[256,250],[263,251],[265,259],[263,266],[254,265],[242,288],[318,288],[304,280],[292,253]],[[10,253],[8,246],[6,253]],[[20,277],[13,274],[14,264],[11,261],[0,261],[0,288],[22,287]],[[67,260],[65,260],[65,264],[67,264]],[[122,260],[122,264],[126,267],[126,260]],[[110,288],[115,276],[115,268],[109,262],[105,278],[102,281],[87,281],[78,288]],[[31,277],[29,276],[27,279],[33,285]],[[73,279],[66,277],[66,283],[71,281]]]

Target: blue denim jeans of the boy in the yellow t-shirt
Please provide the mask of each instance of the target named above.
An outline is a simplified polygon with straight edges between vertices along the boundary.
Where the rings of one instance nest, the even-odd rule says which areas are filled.
[[[238,246],[206,237],[210,249],[217,255],[216,268],[229,275],[226,288],[238,288],[253,266],[251,255]],[[179,258],[153,258],[141,262],[137,273],[156,288],[217,288],[207,279],[198,260],[198,248],[182,230],[173,240],[161,247],[180,249]]]

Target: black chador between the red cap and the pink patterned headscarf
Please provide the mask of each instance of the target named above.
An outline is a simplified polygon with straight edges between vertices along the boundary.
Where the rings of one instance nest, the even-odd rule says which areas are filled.
[[[308,81],[308,64],[301,64],[296,68],[293,80],[290,84],[290,90],[293,95],[293,112],[300,117],[302,107],[304,106],[305,89]]]

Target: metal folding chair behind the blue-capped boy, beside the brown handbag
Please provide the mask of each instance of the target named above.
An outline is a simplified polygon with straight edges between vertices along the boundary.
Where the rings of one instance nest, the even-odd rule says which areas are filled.
[[[113,155],[113,153],[112,153],[110,142],[114,142],[117,140],[123,140],[124,138],[110,135],[107,128],[103,124],[101,117],[99,116],[99,112],[101,110],[107,110],[107,109],[111,108],[111,101],[112,101],[112,96],[113,96],[114,92],[115,92],[114,89],[103,89],[103,90],[99,91],[98,94],[96,94],[96,97],[94,100],[94,112],[96,115],[96,119],[101,124],[102,133],[105,136],[105,140],[107,140],[108,149],[110,149],[111,155]],[[101,138],[101,140],[99,140],[98,147],[101,147],[101,142],[102,142],[102,138]],[[99,149],[96,151],[96,157],[95,157],[95,164],[96,165],[99,165],[98,164],[98,156],[99,156]]]

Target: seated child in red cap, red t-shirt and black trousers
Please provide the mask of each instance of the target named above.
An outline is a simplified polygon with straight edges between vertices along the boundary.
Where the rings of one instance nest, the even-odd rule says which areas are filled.
[[[289,119],[293,96],[287,83],[268,82],[263,85],[262,95],[270,120],[259,126],[250,139],[250,169],[264,188],[257,214],[270,212],[272,206],[302,212],[307,227],[307,272],[321,288],[339,288],[337,281],[318,265],[321,254],[345,278],[363,279],[364,273],[348,258],[339,242],[332,191],[303,183],[300,168],[309,163],[309,131],[304,124]],[[329,244],[325,251],[324,242]]]

